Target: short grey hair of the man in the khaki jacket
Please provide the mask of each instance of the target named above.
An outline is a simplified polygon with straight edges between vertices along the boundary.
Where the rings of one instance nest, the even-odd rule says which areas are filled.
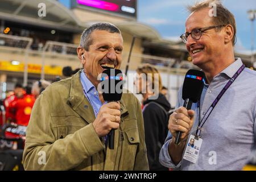
[[[119,28],[117,28],[112,23],[96,23],[90,26],[89,28],[86,28],[84,32],[82,32],[81,40],[80,40],[80,46],[84,48],[86,51],[89,51],[89,46],[92,45],[93,40],[90,38],[90,35],[93,31],[96,30],[105,30],[110,33],[118,33],[121,34],[121,31]]]

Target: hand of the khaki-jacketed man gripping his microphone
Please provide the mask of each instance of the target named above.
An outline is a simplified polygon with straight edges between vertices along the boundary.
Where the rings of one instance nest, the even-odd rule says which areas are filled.
[[[92,123],[98,137],[105,137],[110,130],[118,129],[121,121],[119,102],[102,105],[97,118]]]

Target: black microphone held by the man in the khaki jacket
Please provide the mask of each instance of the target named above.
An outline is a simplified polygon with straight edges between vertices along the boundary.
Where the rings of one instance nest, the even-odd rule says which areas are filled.
[[[105,69],[101,74],[101,89],[104,101],[117,102],[123,92],[123,75],[119,69]],[[114,149],[114,130],[109,133],[109,148]]]

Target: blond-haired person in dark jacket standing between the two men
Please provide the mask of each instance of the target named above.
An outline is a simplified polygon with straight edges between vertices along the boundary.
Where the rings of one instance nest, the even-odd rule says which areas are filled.
[[[162,81],[156,68],[145,65],[137,69],[135,86],[143,96],[145,142],[150,170],[167,170],[159,163],[159,152],[168,133],[170,103],[159,93]]]

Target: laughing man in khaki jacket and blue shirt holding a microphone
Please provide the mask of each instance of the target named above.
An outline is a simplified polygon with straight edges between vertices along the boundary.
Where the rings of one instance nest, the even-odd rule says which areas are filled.
[[[84,69],[48,86],[36,100],[26,133],[26,170],[148,170],[139,101],[127,93],[107,104],[97,92],[104,68],[120,68],[122,45],[121,32],[110,23],[82,33],[77,55]],[[111,129],[114,150],[105,143]]]

